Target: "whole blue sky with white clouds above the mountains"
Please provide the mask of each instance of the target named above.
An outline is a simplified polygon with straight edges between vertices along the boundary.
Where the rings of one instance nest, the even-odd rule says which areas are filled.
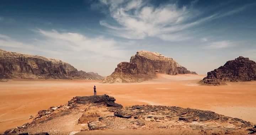
[[[137,51],[207,74],[256,61],[254,0],[1,0],[0,49],[110,75]]]

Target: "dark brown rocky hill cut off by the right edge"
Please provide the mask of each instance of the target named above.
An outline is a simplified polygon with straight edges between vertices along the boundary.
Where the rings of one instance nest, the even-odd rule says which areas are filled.
[[[254,81],[256,80],[256,63],[242,56],[227,61],[218,69],[207,73],[201,81],[204,84],[222,85],[225,82]]]

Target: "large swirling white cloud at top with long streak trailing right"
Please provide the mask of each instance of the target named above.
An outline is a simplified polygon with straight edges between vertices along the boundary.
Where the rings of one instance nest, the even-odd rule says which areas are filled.
[[[100,25],[109,28],[112,35],[127,39],[144,39],[149,36],[173,41],[179,39],[166,38],[166,35],[182,33],[183,30],[188,30],[195,25],[234,14],[246,8],[246,6],[242,6],[233,11],[215,13],[198,19],[201,12],[196,12],[192,8],[197,0],[191,3],[191,7],[178,7],[176,4],[154,7],[142,0],[101,0],[101,2],[109,6],[111,17],[118,23],[118,25],[111,25],[106,21],[100,21]],[[191,22],[191,20],[193,21]],[[177,37],[179,38],[179,36]],[[183,38],[183,40],[186,39],[190,39],[190,36]]]

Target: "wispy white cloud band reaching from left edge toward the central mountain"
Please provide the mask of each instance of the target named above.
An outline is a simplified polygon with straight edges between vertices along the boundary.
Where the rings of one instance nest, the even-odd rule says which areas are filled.
[[[15,39],[0,34],[0,47],[23,48],[47,53],[68,53],[68,52],[90,52],[99,57],[124,57],[125,51],[121,45],[128,43],[119,42],[113,39],[106,39],[103,36],[94,38],[79,33],[59,32],[57,30],[33,30],[41,35],[40,40],[34,39],[30,43],[16,41]],[[55,51],[53,49],[55,48]]]

